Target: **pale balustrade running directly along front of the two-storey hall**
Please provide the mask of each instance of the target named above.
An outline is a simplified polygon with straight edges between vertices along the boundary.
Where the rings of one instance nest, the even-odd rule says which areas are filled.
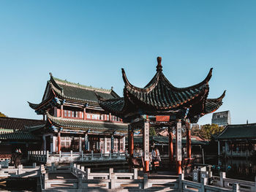
[[[52,162],[75,162],[75,161],[84,161],[84,162],[93,162],[93,161],[118,161],[125,160],[126,153],[83,153],[75,152],[72,150],[70,152],[61,152],[60,153],[49,153],[48,151],[29,151],[28,160],[31,161],[40,161],[47,164]]]

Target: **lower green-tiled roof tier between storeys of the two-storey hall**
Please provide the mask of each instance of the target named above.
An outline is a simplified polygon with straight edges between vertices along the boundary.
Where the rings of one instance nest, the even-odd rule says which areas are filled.
[[[74,129],[80,131],[100,131],[102,133],[113,133],[128,131],[127,123],[113,123],[108,121],[99,120],[80,120],[80,119],[67,119],[67,118],[56,118],[48,114],[49,122],[59,128]]]

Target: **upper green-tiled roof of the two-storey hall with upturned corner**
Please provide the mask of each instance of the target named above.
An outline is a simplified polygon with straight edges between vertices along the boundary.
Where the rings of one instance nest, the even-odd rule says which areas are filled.
[[[113,89],[93,88],[91,86],[80,85],[79,83],[68,82],[67,80],[53,77],[50,73],[50,80],[48,80],[46,85],[42,101],[39,104],[29,102],[29,106],[32,109],[37,110],[40,107],[49,104],[49,102],[53,101],[55,98],[65,99],[66,101],[77,101],[81,104],[89,103],[99,105],[97,96],[95,96],[94,92],[105,99],[119,97]]]

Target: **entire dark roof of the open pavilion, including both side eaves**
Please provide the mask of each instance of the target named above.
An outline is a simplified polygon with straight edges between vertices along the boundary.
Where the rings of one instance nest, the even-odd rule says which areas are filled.
[[[207,99],[212,68],[202,82],[187,88],[176,88],[162,73],[162,58],[157,58],[157,62],[157,73],[144,88],[132,85],[122,69],[124,97],[105,99],[96,93],[99,105],[121,118],[136,114],[174,114],[176,118],[180,118],[187,113],[187,118],[195,121],[209,112],[214,112],[222,105],[225,92],[217,99]]]

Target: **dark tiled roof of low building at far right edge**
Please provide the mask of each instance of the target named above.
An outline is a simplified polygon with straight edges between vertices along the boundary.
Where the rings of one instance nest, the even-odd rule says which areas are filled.
[[[219,139],[256,139],[256,123],[228,125]]]

